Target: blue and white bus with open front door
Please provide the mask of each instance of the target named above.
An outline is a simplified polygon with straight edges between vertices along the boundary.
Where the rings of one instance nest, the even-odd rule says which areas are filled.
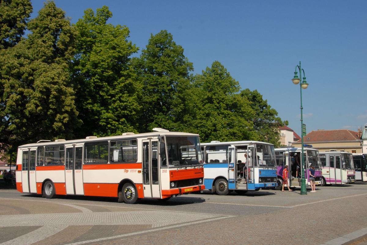
[[[204,185],[219,195],[277,186],[274,145],[259,141],[202,143]],[[247,164],[248,163],[248,164]]]

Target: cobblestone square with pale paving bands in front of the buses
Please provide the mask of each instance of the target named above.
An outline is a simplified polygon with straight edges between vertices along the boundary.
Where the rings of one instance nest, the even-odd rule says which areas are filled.
[[[322,244],[367,227],[367,184],[117,203],[0,190],[3,244]],[[361,238],[362,239],[362,238]]]

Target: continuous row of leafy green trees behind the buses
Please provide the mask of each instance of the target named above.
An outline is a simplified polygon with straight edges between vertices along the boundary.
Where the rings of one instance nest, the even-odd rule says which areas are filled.
[[[151,34],[138,55],[128,27],[108,23],[107,6],[88,8],[74,25],[54,1],[29,20],[31,12],[29,0],[0,0],[3,145],[153,127],[198,133],[202,142],[279,145],[279,126],[287,122],[268,101],[241,90],[218,61],[193,74],[167,30]]]

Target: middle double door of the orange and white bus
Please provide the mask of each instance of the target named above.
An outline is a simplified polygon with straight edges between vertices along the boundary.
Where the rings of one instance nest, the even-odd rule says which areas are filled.
[[[66,146],[65,186],[66,194],[83,195],[83,146]]]

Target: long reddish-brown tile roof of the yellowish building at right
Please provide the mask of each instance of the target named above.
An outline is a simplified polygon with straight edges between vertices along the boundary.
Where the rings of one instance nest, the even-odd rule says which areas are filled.
[[[308,140],[309,138],[309,140]],[[360,140],[358,132],[348,129],[311,131],[303,137],[304,142],[355,141]]]

